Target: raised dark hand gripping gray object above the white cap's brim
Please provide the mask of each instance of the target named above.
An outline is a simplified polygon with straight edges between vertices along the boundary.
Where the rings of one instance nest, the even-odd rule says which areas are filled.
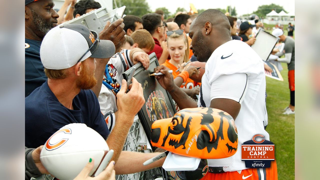
[[[108,21],[104,29],[99,33],[100,39],[110,40],[115,44],[116,52],[119,52],[121,45],[125,42],[125,31],[123,30],[123,19],[118,19],[110,25]]]

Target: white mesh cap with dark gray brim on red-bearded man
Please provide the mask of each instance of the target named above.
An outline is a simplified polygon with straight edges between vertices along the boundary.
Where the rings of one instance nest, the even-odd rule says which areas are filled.
[[[62,70],[92,58],[110,58],[116,48],[112,41],[100,40],[84,25],[66,24],[51,29],[40,47],[40,58],[47,69]]]

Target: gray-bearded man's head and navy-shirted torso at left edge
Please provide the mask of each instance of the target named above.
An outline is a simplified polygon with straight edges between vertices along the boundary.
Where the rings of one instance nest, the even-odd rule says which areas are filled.
[[[37,2],[38,1],[38,2]],[[25,1],[25,96],[46,80],[40,60],[40,46],[47,32],[56,27],[59,14],[51,0]]]

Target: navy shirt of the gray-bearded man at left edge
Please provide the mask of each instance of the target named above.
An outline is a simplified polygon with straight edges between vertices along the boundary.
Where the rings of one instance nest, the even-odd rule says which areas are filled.
[[[40,59],[41,41],[25,39],[25,97],[41,86],[48,78]]]

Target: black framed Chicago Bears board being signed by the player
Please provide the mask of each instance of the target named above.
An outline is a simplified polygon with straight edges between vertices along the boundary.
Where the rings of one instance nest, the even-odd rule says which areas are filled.
[[[128,81],[132,70],[135,68],[133,77],[141,83],[146,101],[138,112],[138,116],[150,142],[152,123],[157,119],[171,118],[177,110],[171,95],[158,83],[154,76],[150,76],[154,68],[159,66],[156,53],[150,54],[149,58],[150,66],[148,70],[145,70],[141,63],[137,63],[122,75]],[[152,147],[152,149],[155,150],[156,148]]]

